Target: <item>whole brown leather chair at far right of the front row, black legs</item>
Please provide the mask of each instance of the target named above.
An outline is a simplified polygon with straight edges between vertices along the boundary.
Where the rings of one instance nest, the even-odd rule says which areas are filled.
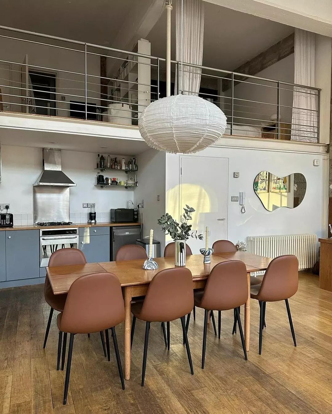
[[[298,260],[293,255],[284,255],[273,259],[267,267],[262,284],[251,288],[250,298],[257,299],[260,303],[259,354],[262,354],[266,302],[285,301],[294,347],[296,347],[296,338],[288,299],[296,294],[297,289]]]

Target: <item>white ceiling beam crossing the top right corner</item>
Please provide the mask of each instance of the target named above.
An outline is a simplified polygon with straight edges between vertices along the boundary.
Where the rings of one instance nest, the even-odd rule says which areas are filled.
[[[203,0],[332,37],[332,7],[328,0]]]

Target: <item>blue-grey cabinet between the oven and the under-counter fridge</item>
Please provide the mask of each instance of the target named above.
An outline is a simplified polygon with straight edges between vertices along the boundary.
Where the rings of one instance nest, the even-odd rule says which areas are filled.
[[[84,253],[88,263],[109,262],[109,232],[109,227],[84,227],[79,229],[79,234],[84,234],[84,236],[79,236],[79,249]]]

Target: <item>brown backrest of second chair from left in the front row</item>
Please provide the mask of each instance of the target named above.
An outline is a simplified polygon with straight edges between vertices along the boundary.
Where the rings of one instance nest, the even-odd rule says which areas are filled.
[[[149,322],[166,322],[181,318],[194,307],[192,274],[185,267],[158,272],[145,296],[140,317]]]

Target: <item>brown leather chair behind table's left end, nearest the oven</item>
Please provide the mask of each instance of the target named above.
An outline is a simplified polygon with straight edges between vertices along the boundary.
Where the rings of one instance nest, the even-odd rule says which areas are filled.
[[[50,260],[48,261],[48,266],[66,266],[66,265],[84,265],[87,262],[87,259],[84,256],[84,253],[79,249],[65,248],[56,250],[51,254]],[[45,339],[43,348],[46,347],[46,342],[48,338],[48,332],[50,332],[53,311],[58,310],[58,312],[63,312],[65,307],[65,302],[67,294],[55,295],[53,294],[52,286],[46,275],[45,284],[44,284],[44,296],[45,301],[51,306],[50,314],[48,316],[48,323],[45,332]]]

